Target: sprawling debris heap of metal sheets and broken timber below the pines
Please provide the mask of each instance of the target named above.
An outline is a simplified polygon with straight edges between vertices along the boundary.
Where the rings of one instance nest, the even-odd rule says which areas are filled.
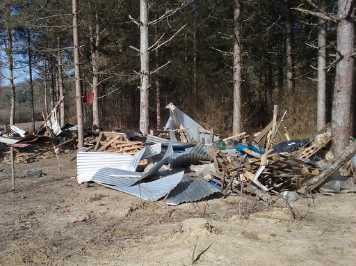
[[[166,108],[170,117],[162,132],[142,136],[117,130],[86,138],[86,147],[76,155],[78,183],[95,182],[147,201],[164,199],[168,205],[200,201],[212,194],[239,194],[269,204],[275,196],[291,198],[292,191],[293,195],[316,189],[340,192],[352,185],[356,141],[351,140],[340,157],[332,157],[327,152],[330,125],[309,139],[291,139],[284,127],[286,141],[277,143],[285,112],[280,120],[275,114],[254,135],[242,132],[221,139],[172,103]],[[55,110],[42,128],[53,137],[77,130],[73,125],[59,127]],[[15,126],[7,132],[0,142],[8,146],[24,147],[38,138]]]

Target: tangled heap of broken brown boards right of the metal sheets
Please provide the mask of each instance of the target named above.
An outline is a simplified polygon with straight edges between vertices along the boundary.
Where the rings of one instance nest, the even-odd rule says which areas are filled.
[[[221,186],[224,194],[228,189],[236,193],[241,193],[243,189],[244,193],[249,194],[247,185],[250,183],[270,194],[280,194],[285,190],[300,189],[307,180],[319,173],[315,164],[303,162],[288,153],[246,159],[245,156],[227,156],[218,151],[213,152],[212,157],[218,172],[213,181]]]

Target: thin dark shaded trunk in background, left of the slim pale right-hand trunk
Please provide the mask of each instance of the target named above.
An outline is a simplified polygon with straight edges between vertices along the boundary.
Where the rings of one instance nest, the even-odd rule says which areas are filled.
[[[291,27],[291,8],[289,0],[284,0],[286,16],[286,86],[288,92],[293,92],[293,57],[292,57],[292,27]]]

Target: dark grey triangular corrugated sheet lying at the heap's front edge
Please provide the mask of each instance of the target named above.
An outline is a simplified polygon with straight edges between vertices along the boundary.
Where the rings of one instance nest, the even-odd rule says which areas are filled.
[[[218,191],[218,188],[202,178],[192,178],[189,175],[184,175],[177,187],[170,191],[166,203],[175,206],[184,202],[199,201]]]

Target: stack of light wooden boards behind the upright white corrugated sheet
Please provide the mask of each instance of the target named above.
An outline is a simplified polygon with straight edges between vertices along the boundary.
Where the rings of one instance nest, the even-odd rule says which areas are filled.
[[[134,155],[142,148],[141,141],[129,141],[124,133],[100,132],[94,150]]]

